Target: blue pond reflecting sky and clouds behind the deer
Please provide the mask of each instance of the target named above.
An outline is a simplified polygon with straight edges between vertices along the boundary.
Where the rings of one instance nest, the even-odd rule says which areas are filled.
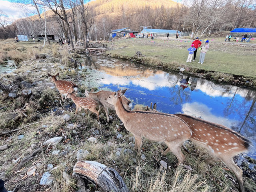
[[[89,72],[82,82],[85,86],[112,91],[128,88],[125,95],[133,106],[153,102],[160,112],[184,113],[232,128],[252,141],[248,155],[256,159],[254,90],[113,58],[92,56],[84,61],[82,69]]]

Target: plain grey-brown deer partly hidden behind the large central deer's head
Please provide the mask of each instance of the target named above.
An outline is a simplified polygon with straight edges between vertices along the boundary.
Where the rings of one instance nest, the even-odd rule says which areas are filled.
[[[109,122],[108,108],[115,109],[115,107],[114,105],[107,103],[105,100],[113,93],[114,92],[111,92],[111,91],[99,91],[97,93],[92,93],[92,92],[88,92],[87,90],[85,90],[84,92],[86,97],[92,98],[100,103],[100,107],[102,106],[104,111],[106,112],[108,122]],[[126,98],[125,96],[121,96],[121,98],[122,98],[122,103],[124,105],[124,108],[126,108],[127,110],[131,110],[132,108],[131,101],[128,100],[128,98]],[[98,110],[99,112],[100,112],[100,107]]]

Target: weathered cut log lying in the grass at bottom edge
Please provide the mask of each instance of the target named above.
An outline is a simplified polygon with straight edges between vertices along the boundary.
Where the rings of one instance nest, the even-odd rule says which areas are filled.
[[[104,192],[129,192],[122,177],[113,168],[96,161],[78,161],[73,172],[76,176],[92,182]]]

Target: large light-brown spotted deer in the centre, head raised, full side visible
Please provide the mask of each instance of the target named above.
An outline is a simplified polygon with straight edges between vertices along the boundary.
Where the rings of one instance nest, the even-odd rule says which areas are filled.
[[[185,156],[180,150],[180,144],[188,140],[192,132],[186,122],[171,114],[147,111],[128,111],[124,108],[121,96],[126,90],[111,94],[106,102],[115,106],[116,114],[124,123],[125,128],[135,136],[135,149],[140,154],[142,136],[165,142],[178,159],[178,164],[184,162]]]

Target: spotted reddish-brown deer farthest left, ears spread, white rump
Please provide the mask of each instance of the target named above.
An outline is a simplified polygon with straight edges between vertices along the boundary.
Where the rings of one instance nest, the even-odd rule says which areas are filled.
[[[65,96],[65,99],[66,99],[66,96],[68,93],[77,92],[78,86],[76,86],[76,84],[74,84],[73,82],[56,79],[56,76],[59,76],[60,73],[57,73],[56,75],[50,75],[49,73],[47,74],[51,78],[51,80],[55,83],[56,88],[59,90],[62,101],[63,101],[63,95]]]

